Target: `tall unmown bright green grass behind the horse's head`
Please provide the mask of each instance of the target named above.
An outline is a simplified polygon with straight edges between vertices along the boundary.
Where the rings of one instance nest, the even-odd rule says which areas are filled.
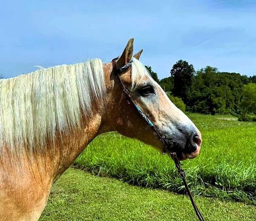
[[[238,122],[232,116],[189,117],[203,137],[200,156],[183,162],[194,195],[256,204],[256,123]],[[140,186],[184,192],[169,157],[116,133],[93,140],[75,165]]]

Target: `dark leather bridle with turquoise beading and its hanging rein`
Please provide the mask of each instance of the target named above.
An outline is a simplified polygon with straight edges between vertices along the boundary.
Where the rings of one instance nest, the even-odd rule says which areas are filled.
[[[118,83],[120,84],[120,86],[121,86],[121,88],[122,88],[122,92],[125,94],[125,98],[131,103],[132,106],[134,106],[134,108],[136,108],[136,110],[138,111],[138,113],[140,114],[140,116],[141,116],[143,119],[145,119],[145,121],[148,123],[148,125],[151,127],[151,129],[157,134],[158,139],[159,139],[159,140],[162,142],[162,144],[163,144],[163,154],[165,154],[166,151],[169,151],[169,154],[170,154],[170,156],[172,157],[172,160],[174,161],[175,166],[176,166],[176,168],[177,168],[177,172],[178,172],[180,178],[182,179],[182,181],[183,181],[183,183],[184,183],[184,186],[185,186],[185,188],[186,188],[186,191],[187,191],[187,193],[188,193],[188,195],[189,195],[189,199],[190,199],[190,201],[191,201],[191,203],[192,203],[192,206],[193,206],[193,208],[194,208],[194,210],[195,210],[195,214],[197,215],[197,217],[198,217],[198,219],[199,219],[200,221],[204,221],[203,216],[201,215],[201,213],[200,213],[198,207],[197,207],[196,204],[195,204],[195,201],[194,201],[194,199],[193,199],[193,197],[192,197],[192,194],[191,194],[191,192],[190,192],[190,190],[189,190],[189,186],[188,186],[188,184],[186,183],[186,179],[185,179],[186,174],[185,174],[184,170],[183,170],[183,169],[181,168],[181,166],[180,166],[180,161],[179,161],[178,158],[177,158],[176,151],[175,151],[175,148],[173,147],[172,141],[169,141],[168,139],[166,139],[166,135],[163,134],[163,133],[161,133],[161,132],[152,124],[152,122],[145,116],[145,114],[142,112],[142,110],[140,110],[139,106],[134,103],[134,100],[131,98],[131,95],[130,95],[129,91],[125,88],[125,85],[123,84],[122,80],[120,79],[119,73],[121,73],[122,71],[128,69],[128,68],[131,66],[131,64],[132,64],[133,59],[131,59],[131,61],[129,61],[127,64],[125,64],[124,67],[121,67],[121,68],[119,68],[119,69],[116,68],[116,60],[117,60],[117,59],[118,59],[118,58],[114,58],[114,59],[112,60],[113,73],[116,75],[117,81],[118,81]]]

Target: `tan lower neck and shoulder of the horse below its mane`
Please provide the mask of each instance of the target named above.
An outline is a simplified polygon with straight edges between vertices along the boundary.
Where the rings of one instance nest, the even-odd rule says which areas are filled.
[[[0,209],[0,216],[7,212],[8,220],[20,220],[20,215],[28,215],[29,219],[34,215],[38,218],[52,183],[96,137],[101,118],[99,113],[94,113],[86,121],[82,118],[81,125],[84,126],[63,134],[61,139],[56,136],[55,145],[48,142],[44,154],[38,154],[35,158],[24,153],[23,157],[13,159],[3,149],[0,159],[0,208],[6,208],[7,211]]]

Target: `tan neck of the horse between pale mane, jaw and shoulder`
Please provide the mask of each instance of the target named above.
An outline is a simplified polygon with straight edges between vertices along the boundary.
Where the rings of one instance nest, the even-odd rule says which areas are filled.
[[[76,157],[81,154],[91,140],[99,134],[113,131],[113,128],[107,123],[109,121],[108,109],[110,108],[108,104],[112,103],[111,93],[113,90],[113,80],[110,77],[111,63],[103,64],[103,70],[107,94],[102,103],[93,105],[93,111],[89,117],[81,116],[80,127],[57,135],[54,145],[52,142],[48,142],[46,154],[38,158],[41,171],[51,174],[53,180],[56,180],[76,160]],[[36,166],[35,170],[37,168]]]

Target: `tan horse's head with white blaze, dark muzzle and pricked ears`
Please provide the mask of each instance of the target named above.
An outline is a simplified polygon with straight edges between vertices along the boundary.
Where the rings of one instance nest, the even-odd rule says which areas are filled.
[[[120,73],[122,82],[143,113],[161,133],[165,134],[166,139],[173,143],[179,159],[196,157],[202,142],[200,131],[170,101],[160,85],[148,74],[145,66],[139,61],[143,50],[133,55],[133,41],[133,38],[128,41],[122,55],[116,60],[116,67],[120,68],[133,58],[131,67]],[[117,82],[111,64],[106,64],[104,68],[110,73],[107,78],[109,81],[106,83],[108,85],[108,102],[105,122],[108,128],[127,137],[141,140],[162,151],[160,140],[122,94],[122,88]]]

